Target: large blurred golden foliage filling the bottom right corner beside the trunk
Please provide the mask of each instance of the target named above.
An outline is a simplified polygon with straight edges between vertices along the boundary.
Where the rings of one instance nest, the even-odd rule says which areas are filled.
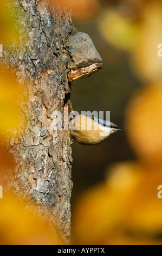
[[[111,174],[110,174],[111,171]],[[161,244],[162,204],[157,197],[161,169],[116,163],[105,182],[80,197],[73,219],[73,243]]]

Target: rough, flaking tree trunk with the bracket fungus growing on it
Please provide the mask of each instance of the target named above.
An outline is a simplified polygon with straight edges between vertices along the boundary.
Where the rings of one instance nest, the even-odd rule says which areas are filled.
[[[68,106],[70,83],[99,70],[102,60],[88,35],[76,32],[70,11],[60,9],[59,1],[54,5],[49,0],[12,2],[23,32],[18,44],[1,42],[0,62],[16,68],[29,101],[21,106],[25,130],[20,129],[20,136],[8,143],[16,159],[14,179],[8,180],[8,186],[19,196],[33,199],[35,211],[49,218],[51,228],[59,230],[68,245],[72,150],[69,131],[53,130],[55,111],[63,114]],[[87,44],[89,51],[83,56]]]

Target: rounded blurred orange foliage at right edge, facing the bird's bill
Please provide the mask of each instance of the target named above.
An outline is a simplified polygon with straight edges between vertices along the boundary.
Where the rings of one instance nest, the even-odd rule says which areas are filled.
[[[145,161],[162,163],[162,80],[138,90],[127,105],[128,141]]]

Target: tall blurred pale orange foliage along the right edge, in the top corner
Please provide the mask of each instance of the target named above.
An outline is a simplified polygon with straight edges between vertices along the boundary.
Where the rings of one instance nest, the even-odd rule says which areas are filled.
[[[141,9],[138,36],[132,51],[132,68],[142,80],[159,79],[162,76],[162,57],[158,57],[158,45],[162,43],[162,3],[151,2]]]

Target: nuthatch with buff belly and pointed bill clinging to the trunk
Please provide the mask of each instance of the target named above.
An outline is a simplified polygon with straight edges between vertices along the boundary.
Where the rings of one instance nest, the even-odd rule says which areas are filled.
[[[73,139],[83,145],[100,144],[112,133],[125,129],[111,121],[96,118],[94,115],[74,115],[70,112],[69,119],[69,129]]]

